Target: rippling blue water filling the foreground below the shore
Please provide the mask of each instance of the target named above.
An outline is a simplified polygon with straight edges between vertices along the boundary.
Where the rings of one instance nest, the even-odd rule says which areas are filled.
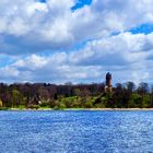
[[[0,153],[153,153],[153,111],[0,111]]]

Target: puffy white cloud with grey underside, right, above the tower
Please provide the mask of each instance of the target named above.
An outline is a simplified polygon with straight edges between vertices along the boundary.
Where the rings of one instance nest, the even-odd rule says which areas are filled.
[[[151,38],[152,37],[152,38]],[[120,66],[145,60],[152,55],[153,34],[122,33],[87,43],[84,49],[72,52],[70,60],[78,64]]]

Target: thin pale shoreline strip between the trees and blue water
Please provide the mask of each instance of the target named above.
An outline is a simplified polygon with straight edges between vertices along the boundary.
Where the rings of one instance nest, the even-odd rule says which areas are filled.
[[[9,109],[0,109],[4,110],[4,111],[58,111],[58,110],[62,110],[62,111],[70,111],[70,110],[74,110],[74,111],[79,111],[79,110],[91,110],[91,111],[96,111],[96,110],[101,110],[101,111],[134,111],[134,110],[153,110],[153,108],[63,108],[63,109],[52,109],[52,108],[39,108],[39,109],[30,109],[30,108],[9,108]]]

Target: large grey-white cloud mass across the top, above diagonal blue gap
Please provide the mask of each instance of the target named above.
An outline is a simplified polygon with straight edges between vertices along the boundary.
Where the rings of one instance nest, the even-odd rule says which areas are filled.
[[[1,0],[1,52],[71,49],[82,40],[153,22],[152,0],[93,0],[72,11],[74,4],[75,0]]]

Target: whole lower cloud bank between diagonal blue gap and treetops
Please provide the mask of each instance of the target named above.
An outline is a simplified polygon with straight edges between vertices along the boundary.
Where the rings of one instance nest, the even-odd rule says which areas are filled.
[[[55,52],[47,57],[33,54],[0,71],[7,71],[4,76],[12,74],[15,80],[32,82],[101,82],[107,71],[113,72],[115,82],[151,82],[152,39],[153,33],[122,33],[90,42],[74,52]]]

